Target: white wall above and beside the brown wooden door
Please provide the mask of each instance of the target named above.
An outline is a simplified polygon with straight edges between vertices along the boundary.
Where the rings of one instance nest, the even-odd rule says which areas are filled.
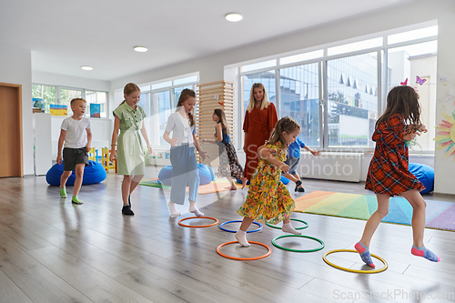
[[[0,82],[22,86],[24,175],[34,174],[31,66],[32,53],[30,50],[0,45]]]

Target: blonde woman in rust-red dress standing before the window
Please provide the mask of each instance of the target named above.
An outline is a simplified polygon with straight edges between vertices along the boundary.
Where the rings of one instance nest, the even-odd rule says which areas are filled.
[[[261,83],[255,83],[251,87],[249,104],[243,122],[245,132],[243,150],[247,155],[243,174],[248,180],[258,167],[258,148],[266,143],[277,121],[277,109],[273,103],[268,101],[266,87]]]

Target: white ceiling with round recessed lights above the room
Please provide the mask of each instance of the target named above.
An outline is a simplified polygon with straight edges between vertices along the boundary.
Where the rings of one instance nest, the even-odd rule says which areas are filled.
[[[36,71],[113,80],[410,1],[0,0],[0,45],[30,49]]]

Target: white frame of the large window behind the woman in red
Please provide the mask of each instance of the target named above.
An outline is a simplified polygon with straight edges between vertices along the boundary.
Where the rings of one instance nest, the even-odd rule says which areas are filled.
[[[366,35],[366,36],[359,36],[357,38],[349,39],[349,41],[339,41],[339,42],[334,42],[330,43],[328,45],[319,45],[319,46],[313,46],[308,49],[304,49],[301,51],[294,51],[292,53],[287,53],[287,54],[281,54],[278,56],[268,56],[266,58],[263,58],[262,60],[257,59],[254,61],[250,61],[248,63],[243,63],[241,66],[238,66],[238,83],[240,84],[240,89],[238,90],[238,108],[239,110],[238,113],[238,118],[240,121],[240,125],[238,126],[238,137],[242,138],[240,140],[240,145],[239,149],[243,148],[243,131],[242,131],[242,126],[243,126],[243,121],[245,119],[245,113],[244,113],[244,107],[245,107],[245,102],[249,101],[249,96],[243,96],[244,94],[244,88],[243,87],[243,82],[242,82],[242,76],[248,76],[251,74],[256,74],[256,73],[261,73],[261,72],[268,72],[268,71],[275,71],[275,90],[276,90],[276,107],[277,107],[277,113],[278,117],[280,116],[280,87],[279,87],[279,70],[281,68],[288,68],[288,67],[294,67],[294,66],[302,66],[302,65],[307,65],[307,64],[312,64],[312,63],[319,63],[319,147],[323,151],[342,151],[342,152],[372,152],[374,150],[374,147],[329,147],[329,128],[328,128],[328,84],[327,84],[327,62],[329,60],[333,59],[339,59],[342,57],[349,57],[349,56],[358,56],[358,55],[364,55],[364,54],[369,54],[369,53],[376,53],[377,56],[377,70],[378,70],[378,116],[380,116],[385,109],[386,106],[386,96],[388,94],[389,87],[387,86],[387,83],[389,82],[389,75],[386,72],[386,69],[388,68],[388,51],[390,48],[397,48],[401,46],[409,46],[409,45],[417,45],[420,43],[425,43],[425,42],[430,42],[430,41],[437,41],[438,42],[438,35],[430,35],[426,37],[421,37],[409,41],[403,41],[399,43],[393,43],[389,45],[389,35],[396,35],[400,33],[405,33],[411,30],[419,30],[419,29],[424,29],[427,27],[431,27],[437,25],[436,21],[431,21],[428,23],[420,24],[420,25],[410,25],[410,26],[405,26],[401,28],[396,28],[393,30],[389,30],[386,32],[382,33],[377,33],[377,34],[372,34],[372,35]],[[365,40],[371,40],[374,38],[382,38],[382,45],[375,46],[375,47],[370,47],[370,48],[363,48],[355,51],[349,51],[346,53],[340,53],[337,55],[328,55],[328,49],[331,47],[336,47],[340,45],[349,45]],[[298,55],[303,55],[311,52],[315,52],[322,49],[323,51],[323,56],[314,58],[314,59],[308,59],[308,60],[301,60],[298,62],[293,62],[285,65],[280,64],[280,59],[288,56],[298,56]],[[437,56],[437,53],[436,53]],[[261,62],[268,62],[271,60],[276,60],[276,66],[270,66],[267,68],[260,68],[257,70],[249,70],[248,72],[243,72],[242,67],[243,66],[250,66],[253,64],[260,64]],[[322,136],[321,136],[322,135]],[[413,153],[421,153],[421,154],[434,154],[434,150],[422,150],[420,152],[418,151],[411,151],[410,154]]]

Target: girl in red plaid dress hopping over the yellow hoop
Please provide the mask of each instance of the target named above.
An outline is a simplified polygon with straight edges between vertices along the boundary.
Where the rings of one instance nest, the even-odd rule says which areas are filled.
[[[427,128],[420,122],[419,95],[410,86],[395,86],[387,96],[387,108],[376,122],[372,140],[376,142],[374,156],[369,163],[365,188],[378,198],[378,210],[365,226],[363,236],[355,245],[360,258],[374,268],[369,255],[369,242],[380,221],[389,213],[389,198],[405,197],[413,208],[412,234],[414,256],[439,262],[440,258],[423,245],[426,203],[420,196],[425,187],[410,173],[407,141],[413,140]]]

